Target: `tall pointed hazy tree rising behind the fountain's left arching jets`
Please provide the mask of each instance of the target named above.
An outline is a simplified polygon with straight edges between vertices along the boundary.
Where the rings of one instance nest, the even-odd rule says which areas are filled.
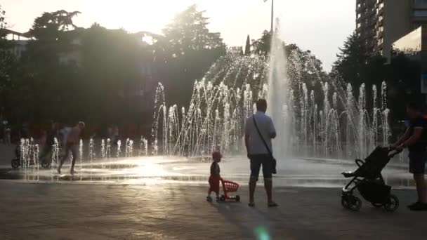
[[[162,79],[171,102],[187,105],[192,86],[219,57],[225,55],[225,44],[218,32],[210,32],[204,11],[195,5],[176,15],[163,30],[163,49],[157,65],[163,66]]]

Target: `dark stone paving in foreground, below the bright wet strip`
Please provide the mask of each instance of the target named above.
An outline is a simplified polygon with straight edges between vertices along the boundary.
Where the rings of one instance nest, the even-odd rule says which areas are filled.
[[[279,208],[209,204],[206,187],[0,181],[0,239],[426,239],[427,212],[344,210],[340,189],[279,188]]]

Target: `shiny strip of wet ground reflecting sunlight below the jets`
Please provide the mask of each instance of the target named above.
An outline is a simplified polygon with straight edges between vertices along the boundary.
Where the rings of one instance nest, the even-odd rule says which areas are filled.
[[[249,161],[242,157],[225,158],[221,162],[221,175],[227,180],[246,185],[249,180]],[[55,169],[27,168],[12,170],[0,168],[0,179],[29,182],[121,183],[204,185],[209,178],[209,159],[187,159],[173,156],[134,157],[77,164],[77,173],[63,174]],[[274,182],[278,187],[341,187],[348,182],[343,171],[354,171],[353,161],[336,159],[288,159],[278,161]],[[261,173],[262,174],[262,173]],[[383,170],[384,178],[393,187],[412,187],[412,176],[407,166],[390,162]],[[260,178],[260,182],[262,182]]]

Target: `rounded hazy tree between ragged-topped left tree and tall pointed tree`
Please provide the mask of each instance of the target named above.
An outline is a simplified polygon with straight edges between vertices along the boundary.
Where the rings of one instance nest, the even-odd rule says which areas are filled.
[[[124,29],[110,30],[100,25],[86,29],[81,37],[82,74],[79,82],[86,119],[98,124],[135,121],[133,112],[140,102],[129,105],[140,89],[140,60],[144,55],[138,38]],[[95,90],[95,91],[94,91]]]

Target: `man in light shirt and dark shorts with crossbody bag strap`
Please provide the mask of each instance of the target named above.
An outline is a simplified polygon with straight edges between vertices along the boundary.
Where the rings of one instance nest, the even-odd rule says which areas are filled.
[[[260,99],[256,102],[256,114],[246,120],[244,142],[247,154],[251,161],[251,178],[249,180],[249,206],[255,206],[254,192],[258,181],[259,171],[263,166],[265,192],[267,192],[268,206],[275,207],[272,201],[272,138],[276,137],[275,126],[270,116],[265,115],[267,101]],[[265,143],[264,143],[265,142]]]

